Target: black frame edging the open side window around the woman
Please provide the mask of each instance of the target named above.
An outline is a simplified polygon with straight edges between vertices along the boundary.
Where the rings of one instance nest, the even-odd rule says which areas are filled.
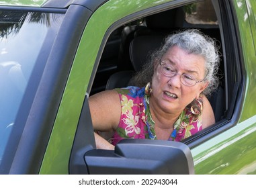
[[[157,7],[151,7],[149,9],[145,9],[143,11],[134,13],[132,15],[128,15],[115,23],[108,29],[103,38],[103,42],[101,44],[101,50],[99,50],[99,54],[97,56],[96,62],[100,60],[101,51],[104,49],[104,44],[108,40],[108,36],[118,27],[130,23],[131,21],[135,21],[137,19],[141,19],[142,17],[151,15],[153,13],[158,13],[160,11],[166,11],[168,9],[172,9],[175,7],[181,7],[183,5],[187,5],[189,3],[196,3],[200,1],[172,1],[167,3],[167,5],[159,5]],[[216,16],[218,18],[217,26],[203,26],[206,28],[216,28],[219,26],[220,35],[221,35],[221,44],[223,48],[223,58],[224,58],[224,95],[226,100],[226,112],[224,114],[224,118],[216,124],[210,126],[199,132],[198,134],[191,136],[183,142],[189,146],[189,148],[194,148],[199,144],[206,142],[210,138],[224,132],[225,130],[235,126],[239,120],[242,110],[243,104],[243,93],[245,92],[245,67],[243,66],[243,60],[241,59],[241,44],[236,43],[239,42],[239,31],[237,27],[237,20],[233,17],[234,7],[232,5],[232,1],[212,1]],[[186,25],[187,26],[187,25]],[[192,24],[190,24],[191,27]],[[193,25],[194,27],[194,25]],[[233,30],[231,30],[232,28]],[[228,32],[224,32],[227,31]],[[227,34],[228,33],[228,34]],[[230,44],[229,46],[227,44]],[[232,54],[226,56],[226,54]],[[229,62],[234,62],[229,63]],[[98,64],[95,64],[94,73],[97,71]],[[235,71],[234,71],[235,69]],[[228,70],[228,71],[227,71]],[[230,75],[233,75],[232,77]],[[237,79],[237,84],[234,85],[234,78]],[[93,83],[93,78],[91,79],[91,85]],[[90,87],[89,87],[90,88]],[[90,90],[87,92],[89,93]]]

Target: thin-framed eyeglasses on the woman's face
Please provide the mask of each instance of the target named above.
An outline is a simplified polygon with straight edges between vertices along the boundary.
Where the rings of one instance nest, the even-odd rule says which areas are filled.
[[[175,70],[175,68],[173,68],[172,66],[168,66],[165,62],[162,62],[160,60],[159,64],[160,64],[161,73],[163,73],[163,75],[165,75],[166,77],[172,78],[172,77],[175,77],[176,75],[180,75]],[[186,86],[194,86],[197,83],[201,83],[202,81],[204,81],[204,79],[202,81],[196,81],[196,79],[193,76],[187,75],[185,73],[180,75],[180,80],[181,80],[181,83]]]

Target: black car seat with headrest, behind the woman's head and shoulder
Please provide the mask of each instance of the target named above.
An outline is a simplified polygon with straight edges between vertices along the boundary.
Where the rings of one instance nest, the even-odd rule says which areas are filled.
[[[140,71],[146,62],[148,53],[159,48],[165,36],[181,28],[184,19],[183,9],[176,8],[145,17],[146,26],[126,26],[120,45],[120,71],[110,76],[105,89],[126,87],[134,73]]]

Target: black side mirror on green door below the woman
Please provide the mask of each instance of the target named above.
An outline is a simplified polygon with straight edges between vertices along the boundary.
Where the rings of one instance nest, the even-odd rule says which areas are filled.
[[[89,174],[194,174],[187,145],[164,140],[122,140],[112,150],[85,153]]]

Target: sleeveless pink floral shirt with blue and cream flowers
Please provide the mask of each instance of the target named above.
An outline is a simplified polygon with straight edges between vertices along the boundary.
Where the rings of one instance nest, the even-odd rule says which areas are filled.
[[[156,140],[155,122],[151,117],[149,96],[145,95],[145,88],[126,87],[116,91],[119,93],[122,112],[120,123],[110,142],[116,145],[125,138]],[[202,130],[202,117],[195,117],[186,107],[173,128],[169,140],[181,141]]]

